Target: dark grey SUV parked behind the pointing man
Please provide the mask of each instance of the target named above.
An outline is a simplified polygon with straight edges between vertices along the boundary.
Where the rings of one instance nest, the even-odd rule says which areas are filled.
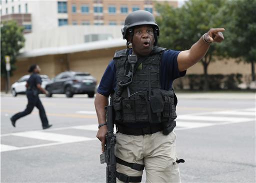
[[[87,72],[61,72],[45,86],[45,89],[48,91],[48,97],[60,93],[65,94],[66,97],[88,94],[88,97],[92,98],[96,89],[96,79]]]

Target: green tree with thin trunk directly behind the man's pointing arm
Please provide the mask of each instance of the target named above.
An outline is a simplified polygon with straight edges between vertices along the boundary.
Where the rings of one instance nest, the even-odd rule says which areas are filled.
[[[222,0],[190,0],[180,8],[168,4],[157,4],[160,27],[159,45],[175,49],[189,49],[210,28],[222,27],[219,10]],[[207,68],[218,55],[217,44],[212,43],[208,52],[200,60],[204,72],[204,90],[208,90]]]

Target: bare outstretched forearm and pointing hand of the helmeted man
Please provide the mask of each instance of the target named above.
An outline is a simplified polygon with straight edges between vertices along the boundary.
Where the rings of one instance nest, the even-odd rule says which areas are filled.
[[[198,62],[208,51],[210,43],[221,42],[224,39],[222,34],[224,30],[224,28],[211,28],[190,49],[181,51],[177,57],[178,70],[182,72]]]

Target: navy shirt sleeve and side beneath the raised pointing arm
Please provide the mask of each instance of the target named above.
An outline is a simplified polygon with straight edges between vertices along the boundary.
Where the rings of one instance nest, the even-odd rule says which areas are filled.
[[[161,88],[162,89],[169,89],[174,79],[182,77],[185,75],[186,70],[179,72],[178,70],[178,63],[177,63],[177,56],[180,51],[175,50],[166,50],[162,53],[161,59],[161,73],[160,73],[160,80],[161,80]]]

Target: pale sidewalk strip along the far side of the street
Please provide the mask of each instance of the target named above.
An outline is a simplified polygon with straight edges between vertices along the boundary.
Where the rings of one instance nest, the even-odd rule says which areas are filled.
[[[24,96],[24,95],[23,95]],[[254,92],[189,92],[182,93],[176,92],[179,99],[245,99],[256,100],[256,93]],[[1,92],[1,97],[12,97],[10,93]],[[40,94],[40,97],[45,97]],[[53,97],[65,98],[64,94],[54,94]],[[87,98],[85,95],[74,95],[74,98]]]

